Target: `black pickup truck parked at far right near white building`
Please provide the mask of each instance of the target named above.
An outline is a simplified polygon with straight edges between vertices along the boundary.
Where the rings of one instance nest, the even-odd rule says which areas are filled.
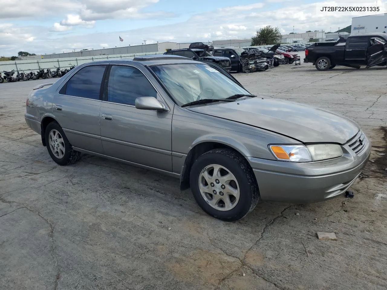
[[[351,34],[336,43],[314,43],[305,49],[304,62],[311,62],[317,70],[329,70],[342,65],[366,68],[384,66],[387,61],[387,34],[370,32]]]

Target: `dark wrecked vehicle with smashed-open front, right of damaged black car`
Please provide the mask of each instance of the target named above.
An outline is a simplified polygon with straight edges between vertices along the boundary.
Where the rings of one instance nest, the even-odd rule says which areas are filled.
[[[266,58],[245,51],[243,48],[214,48],[212,55],[229,58],[231,61],[231,70],[234,72],[248,73],[267,70],[269,68]]]

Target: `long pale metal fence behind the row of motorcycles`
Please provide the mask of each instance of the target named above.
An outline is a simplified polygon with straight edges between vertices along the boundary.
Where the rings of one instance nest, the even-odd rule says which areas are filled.
[[[130,53],[126,55],[98,55],[98,56],[81,56],[81,57],[69,57],[69,58],[48,58],[41,60],[15,60],[15,61],[0,61],[0,72],[19,70],[19,71],[31,71],[39,70],[40,68],[55,70],[57,67],[60,69],[70,68],[72,65],[77,66],[82,63],[98,60],[111,60],[122,58],[134,58],[139,55],[158,55],[163,52],[153,53]]]

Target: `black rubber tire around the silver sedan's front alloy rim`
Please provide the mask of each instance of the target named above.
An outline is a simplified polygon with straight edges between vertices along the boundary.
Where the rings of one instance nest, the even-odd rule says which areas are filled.
[[[223,212],[220,210],[216,210],[204,200],[202,194],[200,193],[199,175],[202,172],[202,169],[204,169],[204,167],[211,164],[218,164],[224,166],[234,174],[236,180],[238,181],[240,198],[238,204],[229,211]],[[199,204],[199,206],[204,210],[204,212],[215,218],[233,221],[243,218],[250,211],[250,207],[253,202],[253,186],[251,184],[251,181],[249,181],[249,178],[247,177],[245,171],[241,169],[240,163],[225,154],[208,153],[201,155],[195,161],[194,165],[191,168],[190,186],[192,193],[194,194],[194,198]]]

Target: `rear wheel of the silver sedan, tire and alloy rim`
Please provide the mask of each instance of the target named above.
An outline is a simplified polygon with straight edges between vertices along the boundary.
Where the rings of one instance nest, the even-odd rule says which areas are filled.
[[[52,137],[55,139],[53,140]],[[65,133],[57,122],[51,122],[47,125],[45,130],[45,139],[48,154],[50,154],[52,160],[54,160],[57,164],[69,165],[77,162],[80,159],[80,152],[75,151],[72,148],[70,142],[68,142],[66,138]]]

